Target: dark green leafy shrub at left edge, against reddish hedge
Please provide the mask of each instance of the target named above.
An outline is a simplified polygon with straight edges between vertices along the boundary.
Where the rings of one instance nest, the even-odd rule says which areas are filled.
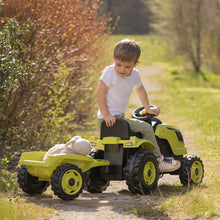
[[[2,20],[2,23],[4,21]],[[4,128],[10,127],[11,120],[7,120],[10,101],[15,102],[14,93],[18,92],[19,82],[22,81],[26,74],[28,66],[23,67],[22,63],[16,58],[17,50],[20,46],[18,35],[25,32],[25,29],[18,30],[18,23],[15,19],[8,20],[4,29],[0,32],[0,137],[4,138]],[[19,101],[19,100],[18,100]],[[5,122],[5,123],[4,123]],[[4,127],[3,127],[4,126]]]

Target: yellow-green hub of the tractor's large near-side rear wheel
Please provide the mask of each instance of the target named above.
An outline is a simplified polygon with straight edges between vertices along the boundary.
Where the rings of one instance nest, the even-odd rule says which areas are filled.
[[[156,168],[153,162],[148,161],[143,170],[144,181],[147,185],[153,184],[156,178]]]

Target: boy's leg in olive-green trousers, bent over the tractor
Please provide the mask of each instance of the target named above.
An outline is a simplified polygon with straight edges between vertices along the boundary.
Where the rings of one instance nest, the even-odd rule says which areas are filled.
[[[156,157],[160,156],[161,155],[160,148],[157,144],[157,140],[152,126],[145,121],[141,121],[135,118],[132,119],[124,118],[124,119],[128,122],[133,132],[140,132],[143,136],[143,139],[146,139],[154,144],[155,149],[152,150],[152,152]]]

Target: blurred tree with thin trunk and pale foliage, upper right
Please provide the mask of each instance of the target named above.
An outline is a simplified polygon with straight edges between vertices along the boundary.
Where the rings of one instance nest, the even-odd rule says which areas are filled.
[[[219,67],[219,0],[158,0],[153,8],[158,12],[158,30],[176,53],[192,63],[195,72],[203,75],[202,65],[209,70],[216,64]]]

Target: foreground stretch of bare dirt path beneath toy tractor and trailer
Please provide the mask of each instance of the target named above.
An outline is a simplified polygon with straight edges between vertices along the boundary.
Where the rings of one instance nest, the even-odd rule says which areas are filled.
[[[52,220],[135,220],[137,216],[126,211],[140,204],[155,204],[157,197],[132,195],[124,181],[112,181],[101,194],[84,192],[73,201],[62,201],[57,197],[45,196],[37,203],[57,210]],[[36,202],[36,201],[35,201]]]

